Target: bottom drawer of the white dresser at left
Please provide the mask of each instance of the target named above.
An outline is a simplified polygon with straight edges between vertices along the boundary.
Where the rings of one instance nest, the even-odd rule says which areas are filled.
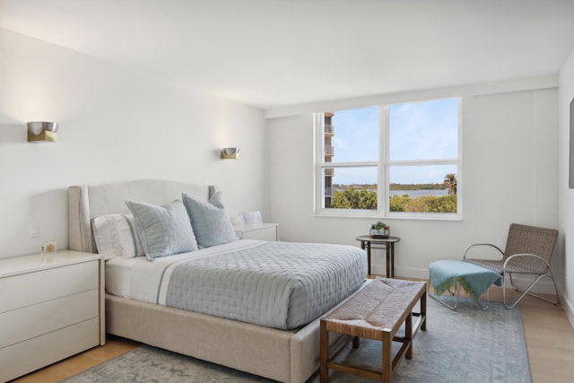
[[[18,378],[100,344],[99,319],[0,348],[0,381]]]

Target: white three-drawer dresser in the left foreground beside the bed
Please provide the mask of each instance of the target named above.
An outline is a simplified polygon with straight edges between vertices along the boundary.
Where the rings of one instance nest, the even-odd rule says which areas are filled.
[[[105,344],[103,286],[97,254],[0,259],[0,381]]]

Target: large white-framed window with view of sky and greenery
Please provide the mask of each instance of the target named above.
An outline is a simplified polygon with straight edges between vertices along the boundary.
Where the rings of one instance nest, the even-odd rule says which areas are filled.
[[[459,218],[459,116],[459,99],[317,114],[317,213]]]

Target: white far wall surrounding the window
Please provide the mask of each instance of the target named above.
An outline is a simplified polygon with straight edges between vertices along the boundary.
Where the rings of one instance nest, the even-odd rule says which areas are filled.
[[[386,95],[369,104],[350,100],[352,107],[376,102],[463,97],[464,219],[460,222],[387,219],[396,245],[396,274],[427,277],[428,265],[439,259],[459,259],[471,243],[504,247],[509,223],[558,227],[557,204],[557,78],[512,86],[466,86],[412,94]],[[548,85],[548,84],[551,85]],[[495,92],[491,92],[495,91]],[[336,107],[341,108],[338,103]],[[331,110],[333,105],[323,105]],[[303,108],[304,109],[304,108]],[[271,114],[270,114],[271,115]],[[303,113],[269,119],[271,219],[281,238],[335,242],[357,246],[372,219],[327,218],[313,215],[312,115]],[[336,129],[336,126],[335,126]],[[335,130],[336,132],[336,130]],[[381,254],[373,272],[382,274]]]

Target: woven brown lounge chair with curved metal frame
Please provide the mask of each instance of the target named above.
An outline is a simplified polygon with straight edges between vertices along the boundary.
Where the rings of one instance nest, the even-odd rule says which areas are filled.
[[[558,289],[556,288],[556,279],[554,278],[552,268],[550,267],[550,260],[554,252],[556,239],[558,239],[558,231],[553,229],[512,223],[510,224],[509,236],[507,238],[506,248],[504,251],[490,243],[478,243],[470,245],[465,249],[463,260],[465,262],[473,263],[474,265],[483,266],[502,275],[502,300],[504,307],[507,309],[512,309],[516,306],[516,304],[522,300],[526,294],[541,300],[546,300],[553,304],[558,304],[560,300],[558,298]],[[490,246],[492,248],[496,248],[500,251],[502,259],[489,260],[467,257],[468,251],[477,246]],[[506,300],[507,274],[509,275],[511,286],[517,291],[522,292],[522,295],[520,295],[516,301],[510,303]],[[533,274],[535,279],[526,289],[520,289],[515,285],[512,279],[513,274]],[[556,293],[556,300],[548,300],[530,292],[535,284],[544,277],[552,279],[552,283],[554,283],[554,292]]]

